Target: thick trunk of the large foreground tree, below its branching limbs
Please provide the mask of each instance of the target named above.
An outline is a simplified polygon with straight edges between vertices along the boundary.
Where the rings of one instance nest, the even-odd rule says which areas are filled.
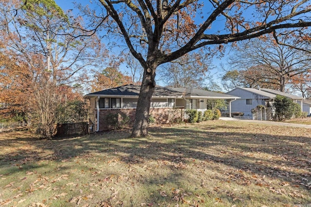
[[[149,71],[150,70],[150,71]],[[155,90],[155,68],[145,69],[137,102],[135,122],[131,137],[148,135],[148,118],[151,97]]]

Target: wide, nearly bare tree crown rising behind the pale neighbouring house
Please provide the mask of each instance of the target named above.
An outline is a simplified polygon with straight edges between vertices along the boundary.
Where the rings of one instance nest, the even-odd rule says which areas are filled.
[[[299,77],[310,73],[311,53],[296,49],[308,48],[306,43],[292,46],[278,45],[271,35],[243,41],[230,57],[228,65],[234,70],[223,77],[225,86],[242,84],[244,87],[266,87],[285,92],[297,83]],[[231,88],[232,89],[232,88]]]

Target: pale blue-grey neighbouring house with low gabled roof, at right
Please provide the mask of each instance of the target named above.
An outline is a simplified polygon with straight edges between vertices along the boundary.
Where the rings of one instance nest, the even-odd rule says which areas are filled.
[[[279,92],[271,89],[255,89],[255,88],[235,88],[227,93],[231,96],[239,96],[238,99],[231,104],[231,112],[243,112],[244,116],[252,116],[252,109],[255,109],[258,105],[265,106],[266,113],[271,117],[273,101],[276,95],[286,96],[293,99],[294,103],[298,103],[301,106],[302,111],[310,114],[311,103],[306,101],[305,98],[294,96],[291,94]]]

